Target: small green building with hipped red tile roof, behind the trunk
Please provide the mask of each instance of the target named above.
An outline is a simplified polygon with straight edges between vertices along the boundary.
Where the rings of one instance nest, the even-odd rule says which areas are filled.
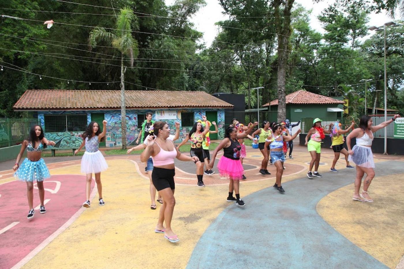
[[[286,118],[291,122],[297,122],[304,118],[335,119],[342,117],[344,102],[331,97],[318,95],[305,90],[298,90],[286,95]],[[266,103],[270,113],[270,121],[276,121],[278,117],[278,99]]]

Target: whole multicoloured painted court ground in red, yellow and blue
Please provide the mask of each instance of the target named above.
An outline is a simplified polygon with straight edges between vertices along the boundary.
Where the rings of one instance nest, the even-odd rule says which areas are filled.
[[[272,187],[274,166],[268,166],[271,175],[259,174],[261,153],[247,149],[243,208],[226,202],[228,181],[217,170],[199,188],[194,164],[176,160],[176,244],[154,233],[158,210],[150,210],[139,156],[106,157],[105,206],[90,208],[82,207],[80,159],[47,158],[47,212],[36,210],[30,220],[25,183],[3,170],[0,268],[404,268],[404,158],[375,154],[369,189],[375,202],[363,203],[351,200],[355,170],[341,160],[339,172],[329,172],[331,150],[322,153],[323,177],[313,180],[306,177],[307,149],[296,146],[294,153],[280,194]]]

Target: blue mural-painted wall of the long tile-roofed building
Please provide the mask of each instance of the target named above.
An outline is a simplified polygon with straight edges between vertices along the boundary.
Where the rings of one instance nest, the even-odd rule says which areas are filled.
[[[153,113],[152,120],[156,120],[155,111],[151,110],[126,110],[126,140],[127,145],[135,145],[135,141],[141,131],[140,128],[142,122],[138,122],[138,114],[145,114],[146,112]],[[225,113],[223,109],[181,109],[174,110],[177,112],[176,119],[164,120],[168,123],[171,133],[175,133],[175,122],[180,123],[180,138],[181,142],[185,135],[189,132],[191,127],[182,127],[181,125],[181,111],[190,112],[194,111],[194,120],[202,120],[202,115],[205,115],[206,111],[217,111],[217,126],[219,128],[218,138],[224,138],[224,124]],[[91,113],[104,113],[105,120],[107,120],[107,135],[106,145],[110,147],[122,145],[122,132],[121,132],[121,116],[120,110],[91,110],[91,111],[40,111],[37,114],[40,120],[40,125],[44,129],[46,139],[55,141],[57,144],[55,148],[78,148],[82,143],[82,131],[74,132],[46,132],[44,115],[72,115],[72,114],[87,114],[87,124],[91,122]],[[51,146],[49,146],[52,148]]]

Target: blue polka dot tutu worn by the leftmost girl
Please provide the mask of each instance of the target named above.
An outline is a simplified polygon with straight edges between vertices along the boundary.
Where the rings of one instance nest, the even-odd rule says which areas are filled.
[[[48,167],[46,167],[44,159],[33,162],[25,158],[21,166],[14,173],[14,177],[21,181],[44,181],[50,178]]]

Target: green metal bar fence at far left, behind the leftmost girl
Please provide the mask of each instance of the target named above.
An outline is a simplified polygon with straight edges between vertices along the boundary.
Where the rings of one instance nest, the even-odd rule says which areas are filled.
[[[38,124],[38,119],[35,118],[0,118],[0,147],[20,144],[28,137],[31,126],[35,124]]]

